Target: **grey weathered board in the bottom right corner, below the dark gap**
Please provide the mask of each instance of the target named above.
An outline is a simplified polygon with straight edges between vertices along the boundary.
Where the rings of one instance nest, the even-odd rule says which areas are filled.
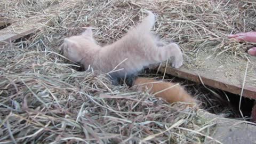
[[[199,110],[198,115],[208,121],[210,120],[211,124],[215,124],[214,132],[209,133],[212,139],[206,138],[204,143],[218,143],[216,140],[225,144],[256,143],[256,137],[254,137],[256,134],[255,124],[223,118],[204,110]]]

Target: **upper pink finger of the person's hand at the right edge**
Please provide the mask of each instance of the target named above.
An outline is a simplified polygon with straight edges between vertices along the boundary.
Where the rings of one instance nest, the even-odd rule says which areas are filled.
[[[228,35],[228,38],[235,38],[238,41],[246,41],[246,42],[256,43],[256,32]]]

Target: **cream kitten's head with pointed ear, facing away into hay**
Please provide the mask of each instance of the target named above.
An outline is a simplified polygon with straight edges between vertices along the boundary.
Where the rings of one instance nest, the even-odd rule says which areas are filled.
[[[63,55],[74,62],[80,62],[87,53],[95,47],[91,28],[86,29],[81,35],[64,39],[61,46]]]

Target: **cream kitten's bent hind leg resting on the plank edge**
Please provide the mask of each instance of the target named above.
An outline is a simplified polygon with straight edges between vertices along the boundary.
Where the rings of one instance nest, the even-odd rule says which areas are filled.
[[[158,47],[159,61],[165,61],[171,57],[174,57],[172,61],[172,67],[179,68],[183,64],[183,56],[179,46],[175,43],[170,43],[165,46]]]

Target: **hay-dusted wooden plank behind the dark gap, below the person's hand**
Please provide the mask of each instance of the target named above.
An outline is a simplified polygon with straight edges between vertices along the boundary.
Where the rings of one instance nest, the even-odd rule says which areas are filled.
[[[251,63],[249,63],[247,70],[242,95],[250,99],[256,99],[256,57],[250,59]],[[209,58],[207,53],[199,54],[196,60],[200,61],[196,68],[191,67],[196,62],[189,61],[185,62],[185,65],[179,69],[170,66],[165,69],[163,64],[160,71],[164,73],[166,70],[166,74],[185,78],[196,83],[203,82],[205,85],[230,93],[241,94],[247,65],[246,60],[234,59],[225,54],[221,57]]]

